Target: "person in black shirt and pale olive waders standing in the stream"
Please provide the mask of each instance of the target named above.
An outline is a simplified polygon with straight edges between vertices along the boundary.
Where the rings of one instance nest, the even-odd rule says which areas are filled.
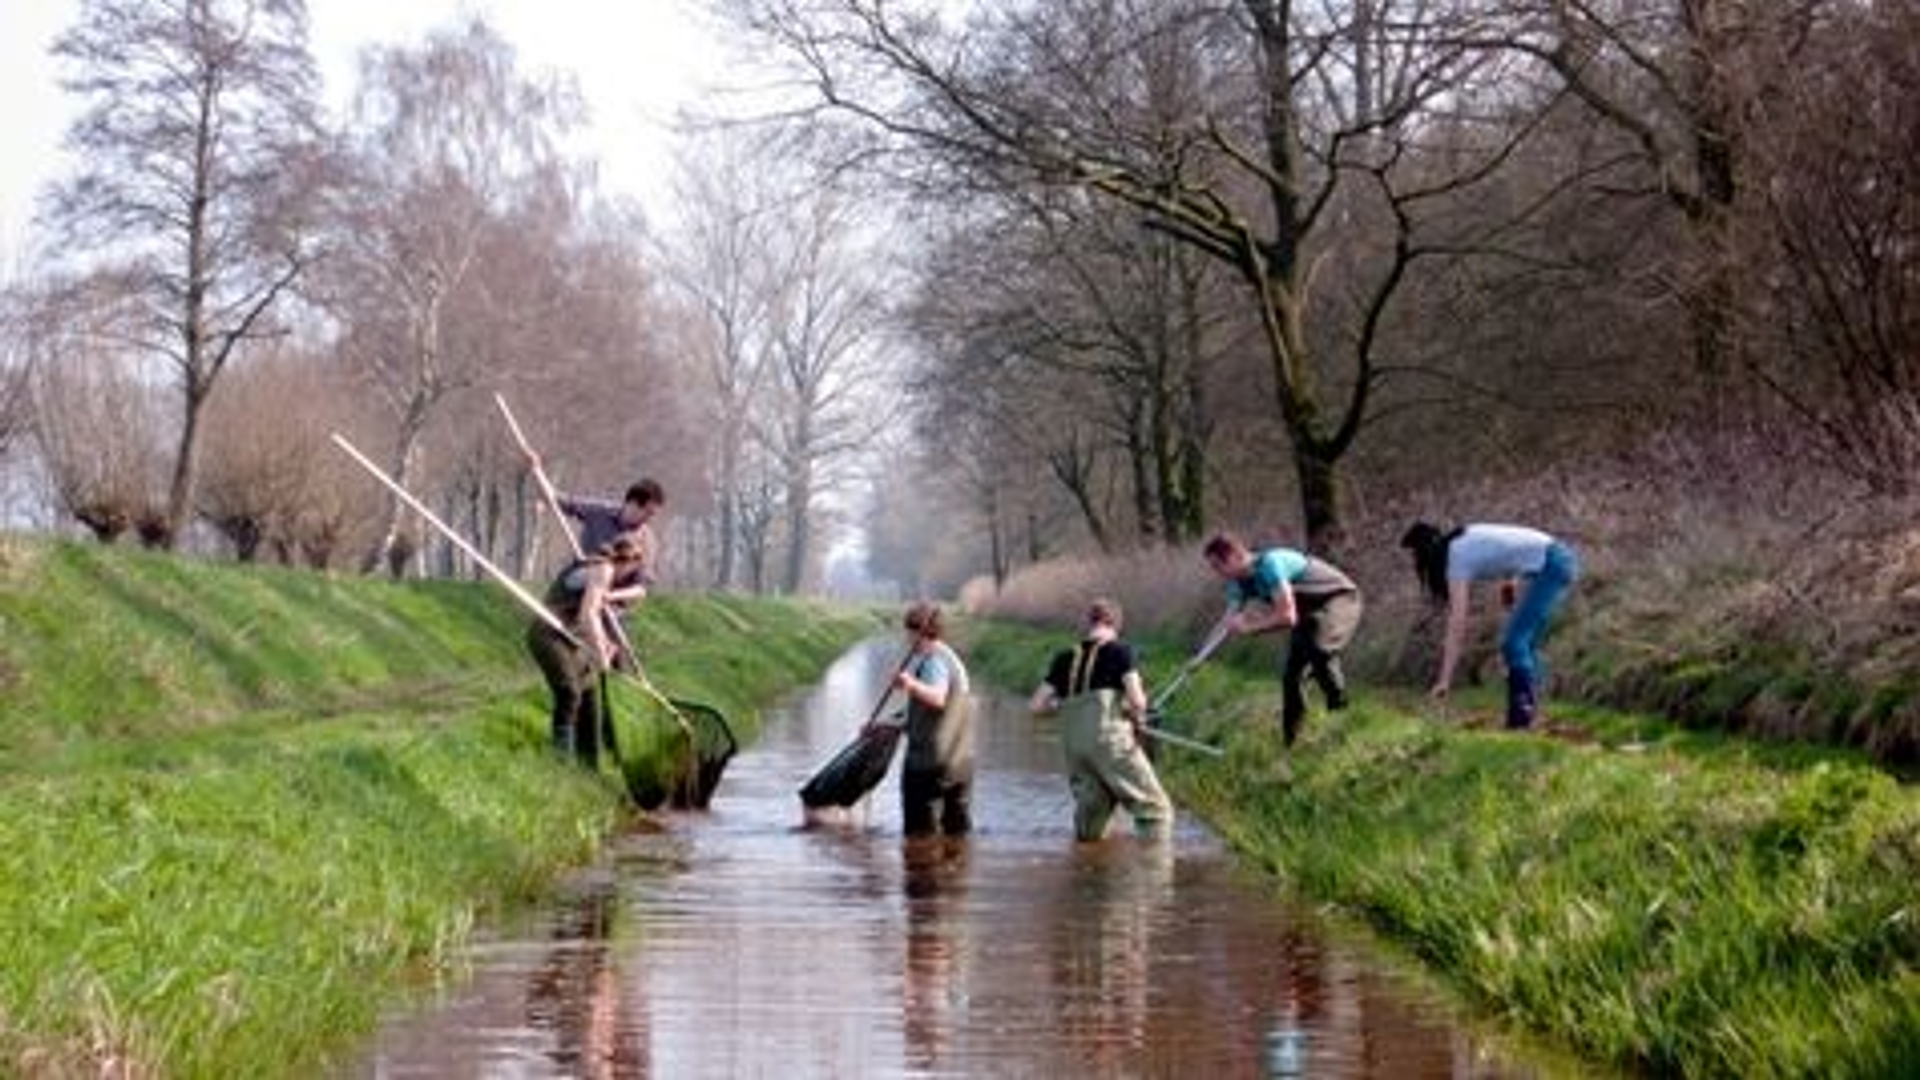
[[[1117,603],[1089,603],[1087,634],[1054,655],[1027,703],[1035,715],[1064,713],[1060,740],[1081,842],[1106,836],[1116,807],[1133,815],[1135,836],[1158,840],[1173,828],[1173,801],[1140,746],[1146,686],[1119,625]]]

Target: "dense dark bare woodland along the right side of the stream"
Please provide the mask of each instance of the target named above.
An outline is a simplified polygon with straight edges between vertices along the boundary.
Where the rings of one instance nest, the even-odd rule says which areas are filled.
[[[1676,429],[1920,484],[1912,4],[714,4],[912,208],[947,484],[876,515],[897,567],[939,507],[995,575],[1336,550],[1356,486]]]

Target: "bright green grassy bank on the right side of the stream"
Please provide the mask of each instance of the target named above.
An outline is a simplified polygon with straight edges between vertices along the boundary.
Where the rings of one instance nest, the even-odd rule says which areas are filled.
[[[966,650],[1027,686],[1060,636]],[[1160,678],[1187,648],[1144,644]],[[1196,675],[1175,723],[1229,755],[1164,753],[1175,798],[1484,1013],[1659,1074],[1920,1074],[1920,792],[1864,755],[1597,709],[1578,742],[1509,736],[1486,694],[1440,717],[1359,688],[1283,782],[1275,700],[1261,650]]]

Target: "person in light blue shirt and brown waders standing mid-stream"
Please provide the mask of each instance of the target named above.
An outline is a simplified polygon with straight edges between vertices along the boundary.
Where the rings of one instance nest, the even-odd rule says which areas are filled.
[[[973,703],[966,665],[941,640],[937,605],[914,603],[900,625],[912,642],[912,655],[893,676],[893,686],[906,694],[900,826],[906,836],[966,836],[973,830]]]

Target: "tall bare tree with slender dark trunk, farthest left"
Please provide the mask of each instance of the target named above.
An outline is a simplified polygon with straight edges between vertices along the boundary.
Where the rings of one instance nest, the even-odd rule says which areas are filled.
[[[159,523],[194,509],[202,409],[307,267],[300,209],[317,173],[317,75],[301,0],[83,0],[54,52],[84,100],[83,171],[52,213],[77,259],[138,282],[136,348],[180,388]]]

